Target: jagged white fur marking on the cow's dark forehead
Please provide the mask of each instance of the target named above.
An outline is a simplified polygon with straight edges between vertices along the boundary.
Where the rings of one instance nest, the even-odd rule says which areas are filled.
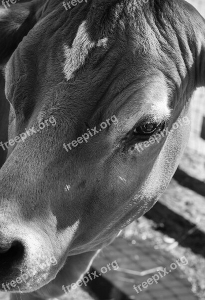
[[[95,46],[106,46],[107,38],[100,39],[97,43],[91,41],[86,29],[86,21],[79,26],[72,47],[64,45],[65,65],[63,72],[67,80],[71,79],[73,73],[84,64],[88,51]]]

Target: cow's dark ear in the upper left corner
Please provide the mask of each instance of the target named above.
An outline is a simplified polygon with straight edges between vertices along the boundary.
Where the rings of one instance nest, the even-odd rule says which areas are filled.
[[[6,7],[6,1],[3,0],[3,3]],[[9,8],[0,7],[0,64],[9,59],[23,36],[36,23],[36,5],[33,2],[9,5]]]

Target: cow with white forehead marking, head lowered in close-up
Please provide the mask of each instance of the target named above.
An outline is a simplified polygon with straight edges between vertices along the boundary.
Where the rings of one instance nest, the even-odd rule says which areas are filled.
[[[15,2],[0,8],[0,290],[47,299],[169,184],[205,20],[184,0]]]

